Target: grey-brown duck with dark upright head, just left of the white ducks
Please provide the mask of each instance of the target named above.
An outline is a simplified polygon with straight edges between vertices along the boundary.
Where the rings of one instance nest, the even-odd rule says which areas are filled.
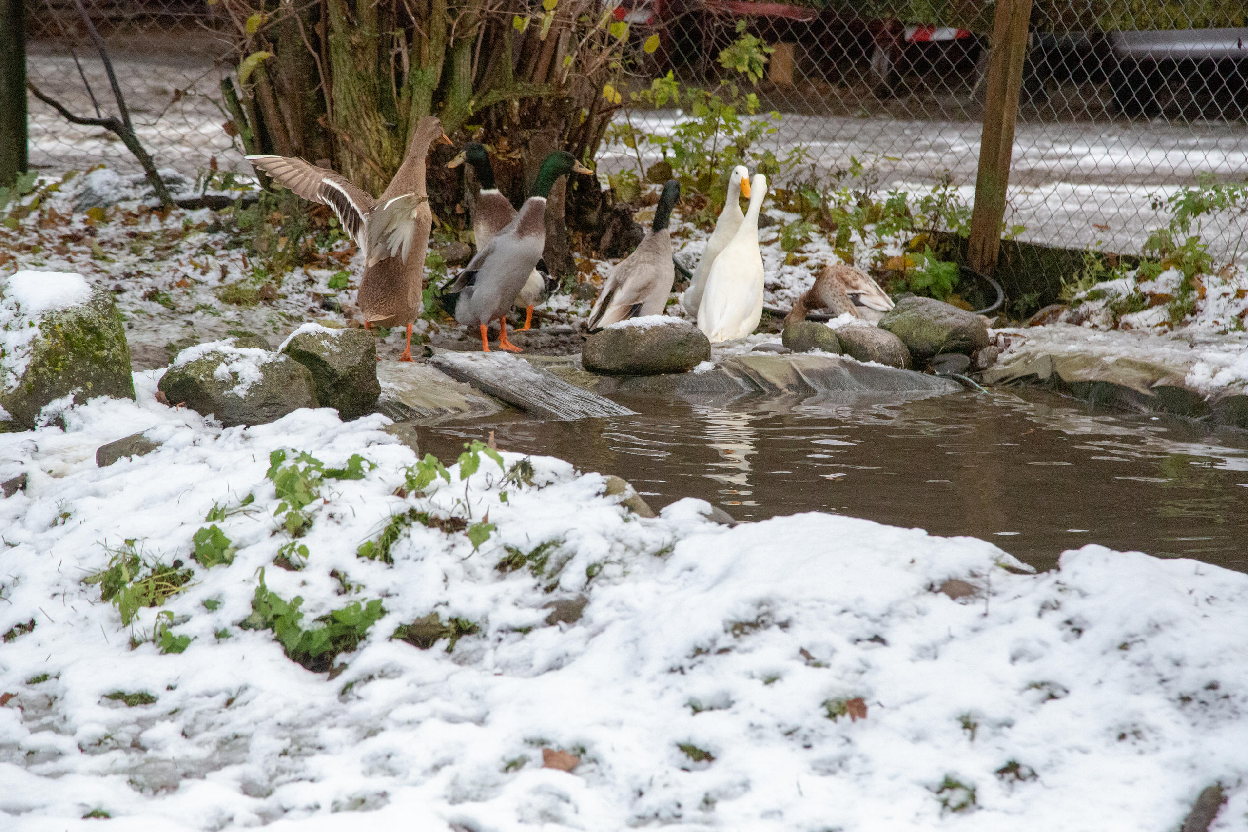
[[[671,261],[671,208],[680,198],[680,182],[668,180],[654,208],[654,222],[633,253],[612,269],[607,284],[589,314],[589,332],[629,318],[663,314],[676,279]]]

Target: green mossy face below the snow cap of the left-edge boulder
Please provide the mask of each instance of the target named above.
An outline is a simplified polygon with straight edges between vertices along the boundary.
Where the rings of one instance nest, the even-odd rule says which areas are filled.
[[[96,287],[85,303],[40,316],[26,369],[15,387],[0,389],[0,407],[26,429],[49,403],[74,397],[135,398],[126,329],[112,293]],[[2,383],[0,383],[2,387]]]

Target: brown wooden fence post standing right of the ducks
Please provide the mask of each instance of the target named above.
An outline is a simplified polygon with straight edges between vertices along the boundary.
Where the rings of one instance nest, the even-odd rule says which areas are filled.
[[[1027,21],[1031,0],[997,0],[992,21],[992,52],[988,55],[988,80],[983,106],[983,133],[980,140],[980,170],[975,177],[975,210],[971,212],[971,239],[967,262],[983,274],[997,267],[1001,248],[1001,221],[1006,216],[1006,186],[1013,152],[1015,117],[1022,66],[1027,57]]]

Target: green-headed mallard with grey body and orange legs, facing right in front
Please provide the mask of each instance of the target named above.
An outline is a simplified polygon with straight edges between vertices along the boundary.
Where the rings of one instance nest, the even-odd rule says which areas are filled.
[[[507,339],[504,316],[542,258],[542,249],[545,247],[545,205],[550,188],[555,180],[573,171],[593,173],[568,151],[558,150],[547,156],[537,182],[533,183],[533,196],[524,201],[504,228],[477,249],[449,288],[449,292],[459,293],[456,319],[480,327],[480,348],[484,352],[489,352],[485,328],[495,318],[499,324],[499,349],[520,352],[519,347]]]

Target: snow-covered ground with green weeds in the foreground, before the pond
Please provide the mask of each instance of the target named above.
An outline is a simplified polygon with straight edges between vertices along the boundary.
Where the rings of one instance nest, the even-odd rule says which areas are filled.
[[[0,499],[7,828],[1169,830],[1214,782],[1213,828],[1248,823],[1248,575],[1097,546],[1028,575],[981,540],[690,499],[639,519],[507,453],[422,485],[383,417],[222,430],[158,374],[0,435],[0,479],[27,476]],[[96,468],[142,428],[163,447]],[[301,463],[292,538],[298,452],[326,472]],[[359,556],[388,525],[393,563]],[[191,573],[127,627],[84,579],[129,551]],[[331,610],[363,639],[306,670],[240,627],[266,593],[303,599],[292,652]],[[431,614],[458,640],[391,637]]]

